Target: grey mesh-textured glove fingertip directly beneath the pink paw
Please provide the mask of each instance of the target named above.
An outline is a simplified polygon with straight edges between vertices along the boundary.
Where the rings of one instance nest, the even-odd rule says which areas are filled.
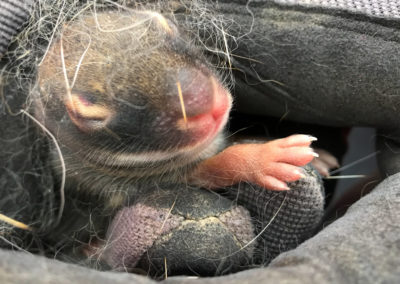
[[[324,194],[320,177],[307,167],[306,177],[291,183],[287,192],[241,184],[227,197],[246,207],[256,227],[255,262],[267,264],[280,253],[309,238],[322,219]]]

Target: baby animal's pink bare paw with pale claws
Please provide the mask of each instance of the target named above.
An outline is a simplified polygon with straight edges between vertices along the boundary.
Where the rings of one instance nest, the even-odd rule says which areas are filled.
[[[300,167],[317,153],[310,147],[316,138],[292,135],[264,144],[236,144],[202,162],[191,182],[208,188],[223,188],[250,182],[272,190],[288,190],[287,182],[304,176]]]

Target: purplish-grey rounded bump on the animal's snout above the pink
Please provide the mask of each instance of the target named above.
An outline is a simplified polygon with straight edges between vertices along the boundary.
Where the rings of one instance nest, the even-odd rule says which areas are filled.
[[[181,94],[176,88],[176,97],[172,100],[177,109],[186,112],[183,115],[192,117],[212,110],[214,90],[210,76],[197,69],[184,68],[178,72],[177,85]]]

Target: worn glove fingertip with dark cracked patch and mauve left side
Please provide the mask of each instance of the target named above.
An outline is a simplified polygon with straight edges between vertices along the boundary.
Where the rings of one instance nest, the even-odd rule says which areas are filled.
[[[251,263],[255,243],[249,212],[207,190],[162,186],[122,208],[111,226],[104,260],[116,270],[150,275],[219,275]]]

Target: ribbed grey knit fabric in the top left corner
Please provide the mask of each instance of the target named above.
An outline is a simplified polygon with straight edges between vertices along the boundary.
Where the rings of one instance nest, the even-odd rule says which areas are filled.
[[[0,1],[0,58],[21,26],[28,20],[33,0]]]

